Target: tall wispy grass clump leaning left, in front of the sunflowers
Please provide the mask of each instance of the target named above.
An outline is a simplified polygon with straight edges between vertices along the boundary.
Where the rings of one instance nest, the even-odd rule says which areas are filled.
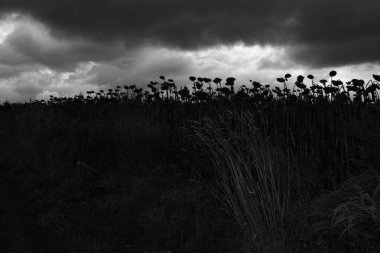
[[[250,113],[205,118],[193,134],[208,154],[229,211],[252,252],[284,252],[290,166],[254,126]]]

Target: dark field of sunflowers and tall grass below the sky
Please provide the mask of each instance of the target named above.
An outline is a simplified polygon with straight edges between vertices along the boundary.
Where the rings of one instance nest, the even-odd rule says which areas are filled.
[[[379,252],[380,76],[336,75],[4,103],[1,252]]]

